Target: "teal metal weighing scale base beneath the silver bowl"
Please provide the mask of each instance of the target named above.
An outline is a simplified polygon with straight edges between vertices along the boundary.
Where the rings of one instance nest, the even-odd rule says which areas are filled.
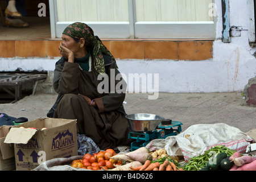
[[[159,116],[156,115],[156,117],[159,117]],[[127,116],[126,118],[129,121],[129,116]],[[156,125],[156,127],[152,126],[152,127],[154,127],[153,130],[147,131],[148,128],[146,128],[146,130],[144,130],[144,131],[135,130],[135,131],[131,131],[129,133],[129,139],[136,139],[134,142],[131,143],[131,151],[134,151],[138,148],[146,146],[153,139],[164,139],[166,137],[177,135],[181,132],[181,125],[183,125],[183,123],[181,123],[179,121],[171,121],[171,119],[168,119],[168,122],[164,121],[164,120],[167,120],[164,118],[157,118],[157,119],[151,120],[151,121],[147,121],[147,120],[140,121],[137,119],[137,122],[144,122],[144,123],[145,122],[155,122],[156,120],[158,120],[160,123],[158,122],[159,124]],[[132,121],[132,122],[134,122],[134,121]],[[143,125],[143,127],[144,127],[144,125]],[[151,127],[151,129],[152,129],[152,127]],[[174,127],[176,127],[176,129],[174,129]],[[134,125],[130,125],[130,128],[131,128],[131,130],[133,130]]]

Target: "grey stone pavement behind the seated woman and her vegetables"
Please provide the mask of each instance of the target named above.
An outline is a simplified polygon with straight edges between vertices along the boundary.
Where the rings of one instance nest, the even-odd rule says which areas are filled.
[[[0,104],[0,113],[28,121],[44,118],[56,97],[36,93],[15,104]],[[150,113],[180,121],[182,131],[199,123],[226,123],[246,133],[256,127],[256,107],[242,106],[243,100],[240,92],[159,93],[156,100],[148,100],[146,93],[127,93],[124,106],[127,114]]]

